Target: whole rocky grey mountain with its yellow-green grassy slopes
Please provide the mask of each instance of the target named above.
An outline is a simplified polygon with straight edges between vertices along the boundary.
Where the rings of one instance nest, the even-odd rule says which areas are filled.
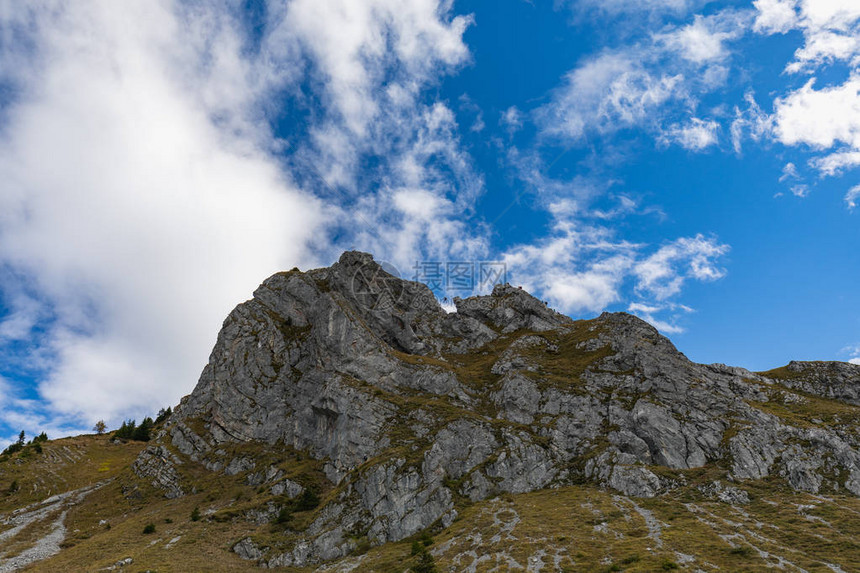
[[[860,367],[695,364],[510,285],[454,304],[358,252],[270,277],[145,447],[74,438],[65,489],[62,440],[0,464],[0,572],[60,529],[34,570],[860,570]]]

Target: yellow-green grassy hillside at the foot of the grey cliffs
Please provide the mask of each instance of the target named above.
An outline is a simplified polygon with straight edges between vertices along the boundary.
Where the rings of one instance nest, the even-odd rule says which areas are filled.
[[[196,491],[168,500],[129,469],[142,447],[79,436],[46,442],[40,454],[25,451],[0,463],[0,571],[15,570],[9,559],[26,555],[55,533],[61,515],[62,550],[25,570],[97,571],[131,559],[118,569],[255,571],[253,562],[230,551],[237,540],[289,537],[291,528],[308,521],[310,514],[300,511],[278,523],[268,505],[277,500],[264,488],[246,485],[246,473],[217,475],[193,463],[184,464],[182,472]],[[297,480],[309,483],[318,476],[316,462],[296,452],[271,455]],[[544,571],[838,571],[837,565],[860,570],[860,500],[798,493],[770,478],[722,482],[736,488],[735,499],[726,502],[712,486],[717,473],[707,467],[672,472],[683,485],[654,499],[588,485],[506,494],[462,506],[445,530],[364,547],[361,555],[323,570],[402,572],[416,566],[424,551],[439,571],[541,570],[541,565]],[[13,481],[17,488],[10,491]],[[93,485],[101,487],[80,499],[51,501],[58,493]],[[26,509],[13,515],[21,508]],[[33,514],[38,515],[23,527],[13,522]]]

